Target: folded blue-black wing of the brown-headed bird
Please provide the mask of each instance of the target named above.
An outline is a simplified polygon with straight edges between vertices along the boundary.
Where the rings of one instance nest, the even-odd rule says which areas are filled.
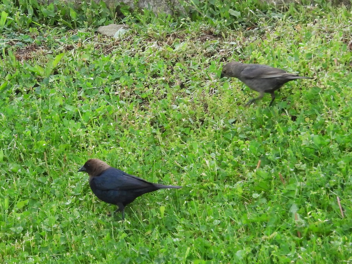
[[[150,187],[152,183],[142,178],[127,174],[126,172],[109,168],[92,180],[96,188],[100,190],[136,190],[139,188]]]

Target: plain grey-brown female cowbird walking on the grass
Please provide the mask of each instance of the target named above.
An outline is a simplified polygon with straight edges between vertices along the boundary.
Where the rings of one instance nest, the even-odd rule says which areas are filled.
[[[282,69],[262,64],[244,64],[240,62],[229,62],[222,68],[220,78],[236,77],[244,82],[249,88],[259,92],[257,98],[249,100],[245,105],[250,105],[257,99],[261,99],[264,93],[271,94],[271,102],[275,100],[274,91],[281,88],[285,83],[296,79],[313,79],[312,77],[298,76],[288,73]]]

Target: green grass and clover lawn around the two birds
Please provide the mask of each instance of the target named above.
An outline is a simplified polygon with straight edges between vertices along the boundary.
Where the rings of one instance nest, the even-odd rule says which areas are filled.
[[[351,14],[291,5],[230,29],[132,13],[118,40],[78,20],[5,25],[1,262],[351,263]],[[246,108],[227,60],[316,80]],[[121,221],[77,173],[89,158],[183,188]]]

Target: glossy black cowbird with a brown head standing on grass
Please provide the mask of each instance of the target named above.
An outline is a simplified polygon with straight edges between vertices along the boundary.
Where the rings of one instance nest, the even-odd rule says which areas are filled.
[[[139,177],[113,168],[100,159],[88,159],[78,170],[85,171],[89,175],[89,186],[93,193],[103,202],[117,205],[117,211],[122,212],[122,220],[125,219],[125,206],[138,196],[159,189],[175,188],[181,186],[162,185],[147,182]]]

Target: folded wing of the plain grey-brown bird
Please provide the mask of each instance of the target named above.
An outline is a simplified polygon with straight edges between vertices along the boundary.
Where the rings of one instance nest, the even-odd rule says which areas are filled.
[[[273,68],[267,65],[250,65],[241,71],[241,77],[252,78],[277,78],[284,76],[294,76],[282,69]]]

